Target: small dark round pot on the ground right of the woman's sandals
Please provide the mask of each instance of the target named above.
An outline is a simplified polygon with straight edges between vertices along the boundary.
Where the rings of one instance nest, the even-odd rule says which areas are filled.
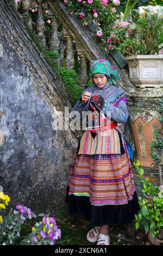
[[[133,234],[133,243],[134,245],[146,245],[148,241],[148,235],[145,232],[145,229],[139,228],[135,230]]]

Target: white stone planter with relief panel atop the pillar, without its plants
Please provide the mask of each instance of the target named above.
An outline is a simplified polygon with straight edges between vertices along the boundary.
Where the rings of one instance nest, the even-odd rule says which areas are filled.
[[[163,54],[126,57],[129,76],[136,87],[163,87]]]

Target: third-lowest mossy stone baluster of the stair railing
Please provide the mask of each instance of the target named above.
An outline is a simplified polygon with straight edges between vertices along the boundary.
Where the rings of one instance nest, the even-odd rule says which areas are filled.
[[[59,52],[59,45],[60,41],[58,38],[58,25],[57,25],[57,18],[54,16],[51,10],[49,12],[49,18],[52,21],[52,38],[50,40],[50,47],[52,50]]]

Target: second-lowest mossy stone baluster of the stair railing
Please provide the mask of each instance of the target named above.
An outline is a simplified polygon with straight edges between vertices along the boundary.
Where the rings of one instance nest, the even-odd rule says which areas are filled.
[[[66,68],[74,69],[74,56],[72,48],[72,38],[67,34],[66,29],[64,28],[64,38],[66,38]]]

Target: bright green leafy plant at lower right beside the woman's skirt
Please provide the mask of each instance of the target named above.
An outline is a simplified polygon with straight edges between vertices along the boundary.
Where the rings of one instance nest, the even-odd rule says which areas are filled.
[[[139,229],[140,224],[148,236],[147,244],[161,245],[163,243],[163,186],[157,186],[149,182],[149,178],[143,179],[143,168],[139,168],[139,160],[134,166],[140,175],[143,184],[142,193],[144,198],[139,197],[140,212],[135,215],[135,228]],[[144,233],[144,234],[145,234]],[[141,234],[144,236],[144,234]],[[137,234],[134,233],[133,241]],[[141,236],[142,237],[142,236]]]

